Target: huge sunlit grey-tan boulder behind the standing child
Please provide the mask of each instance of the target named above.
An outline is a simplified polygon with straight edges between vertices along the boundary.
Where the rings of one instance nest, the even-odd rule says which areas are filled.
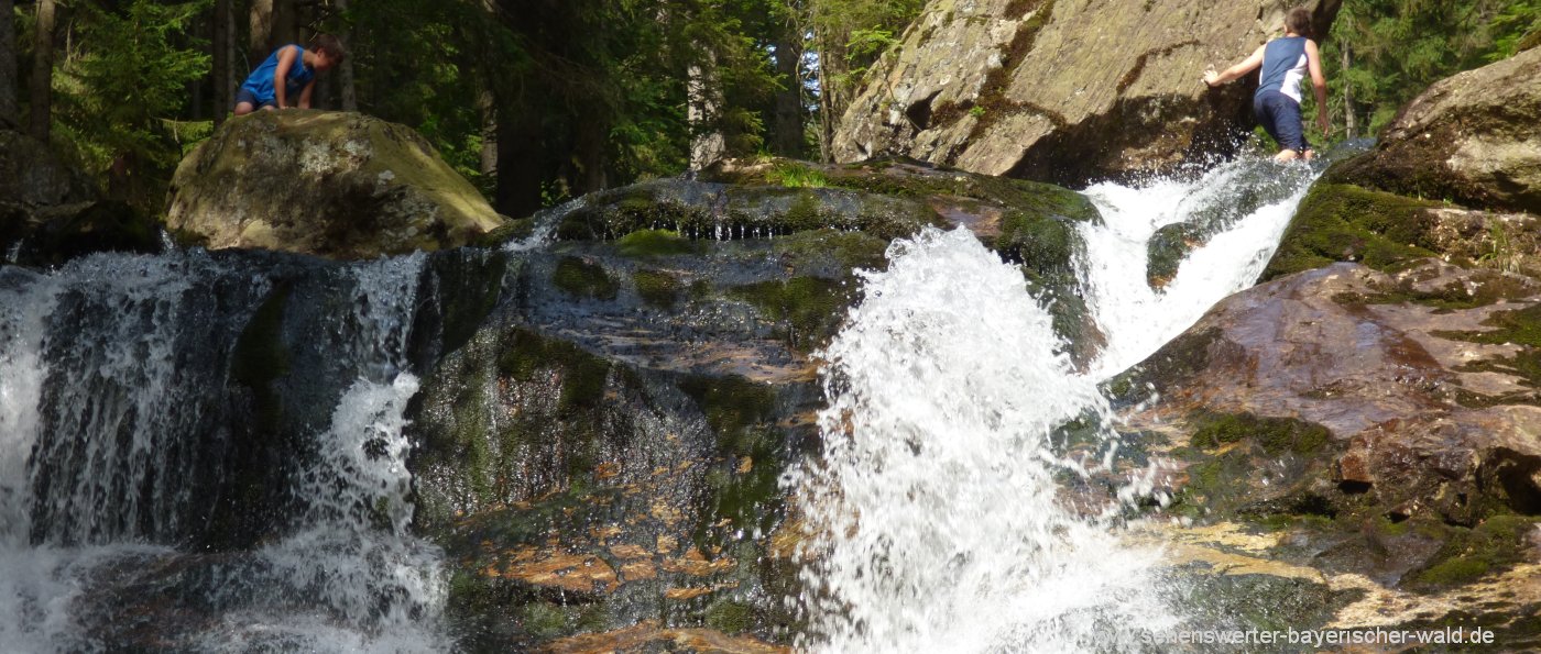
[[[1080,185],[1225,151],[1256,82],[1200,75],[1279,35],[1291,5],[932,0],[846,111],[835,158]],[[1341,2],[1304,5],[1325,32]]]

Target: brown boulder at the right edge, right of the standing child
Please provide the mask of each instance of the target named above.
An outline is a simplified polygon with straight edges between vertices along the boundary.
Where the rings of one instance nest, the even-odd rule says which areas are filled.
[[[1430,86],[1333,179],[1541,214],[1541,49]]]

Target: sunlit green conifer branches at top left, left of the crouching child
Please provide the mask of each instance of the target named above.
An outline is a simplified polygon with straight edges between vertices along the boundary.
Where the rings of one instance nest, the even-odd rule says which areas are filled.
[[[186,86],[210,69],[203,42],[190,35],[210,0],[133,0],[120,9],[76,6],[71,38],[54,74],[54,128],[86,171],[126,185],[128,199],[159,209],[165,179],[200,128],[174,118],[186,108]],[[128,172],[125,172],[128,169]]]

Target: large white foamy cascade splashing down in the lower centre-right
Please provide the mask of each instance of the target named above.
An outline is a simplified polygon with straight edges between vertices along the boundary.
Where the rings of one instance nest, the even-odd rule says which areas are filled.
[[[963,229],[889,257],[824,352],[824,457],[787,480],[812,532],[800,645],[1057,652],[1170,625],[1157,554],[1056,502],[1076,465],[1051,431],[1108,409],[1022,274]]]

